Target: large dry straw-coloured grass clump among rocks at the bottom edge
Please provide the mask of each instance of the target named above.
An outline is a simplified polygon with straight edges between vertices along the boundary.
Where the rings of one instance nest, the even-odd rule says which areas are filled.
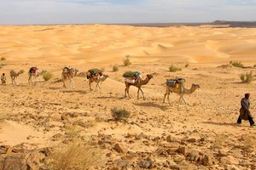
[[[70,143],[66,147],[60,147],[49,156],[50,169],[77,169],[84,170],[98,166],[104,161],[102,151],[88,143]]]

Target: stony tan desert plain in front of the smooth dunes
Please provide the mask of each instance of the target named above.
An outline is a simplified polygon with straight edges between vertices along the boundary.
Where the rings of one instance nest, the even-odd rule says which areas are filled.
[[[103,65],[109,78],[101,91],[90,91],[86,77],[74,77],[75,88],[62,88],[63,65],[42,64],[54,78],[39,85],[27,84],[32,64],[7,62],[1,72],[24,69],[18,85],[0,87],[0,169],[255,169],[255,127],[236,125],[240,100],[251,93],[252,112],[256,84],[241,83],[239,74],[254,68],[219,64],[177,64],[172,73],[166,64]],[[79,72],[100,65],[73,65]],[[86,68],[86,69],[85,69]],[[125,71],[153,74],[143,86],[146,100],[124,98]],[[82,75],[82,74],[81,74]],[[177,111],[177,94],[171,105],[162,103],[166,78],[183,77],[186,87],[200,84],[185,95]],[[9,79],[9,77],[8,77]],[[42,78],[41,78],[42,80]],[[95,84],[93,84],[95,88]],[[124,122],[113,120],[111,109],[131,112]]]

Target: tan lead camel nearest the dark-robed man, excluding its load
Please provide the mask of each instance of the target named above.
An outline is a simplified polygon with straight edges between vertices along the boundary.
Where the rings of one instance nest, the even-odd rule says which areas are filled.
[[[187,111],[189,111],[189,108],[188,108],[188,105],[187,105],[187,102],[186,100],[183,98],[183,95],[184,94],[192,94],[193,92],[195,92],[195,90],[197,88],[200,88],[200,86],[198,84],[192,84],[191,88],[190,89],[187,89],[184,87],[183,85],[183,82],[179,83],[179,87],[176,88],[176,87],[170,87],[168,85],[166,85],[166,94],[164,96],[164,100],[163,100],[163,103],[165,103],[165,99],[166,99],[166,95],[167,95],[167,99],[168,99],[168,103],[170,105],[170,99],[169,99],[169,96],[171,93],[175,93],[175,94],[178,94],[179,95],[179,99],[178,99],[178,104],[177,104],[177,109],[179,110],[179,105],[180,105],[180,101],[181,99],[183,99],[185,105],[186,105],[186,108],[187,108]]]

